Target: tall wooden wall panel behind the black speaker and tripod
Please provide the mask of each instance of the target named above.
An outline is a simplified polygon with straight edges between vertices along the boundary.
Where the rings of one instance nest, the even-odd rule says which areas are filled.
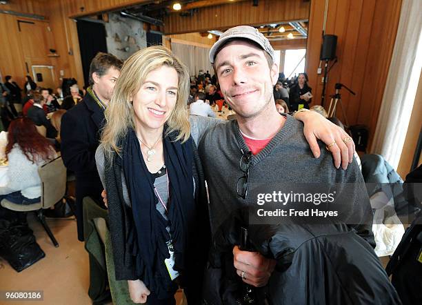
[[[312,0],[307,44],[306,72],[314,94],[321,104],[322,77],[317,74],[325,0]],[[383,90],[399,24],[401,1],[330,0],[325,34],[338,36],[339,58],[328,74],[324,106],[328,108],[334,84],[344,83],[356,96],[342,89],[341,97],[349,124],[370,128],[370,141],[376,128]],[[322,65],[323,67],[323,65]],[[337,116],[344,121],[341,109]],[[370,144],[368,145],[368,148]]]

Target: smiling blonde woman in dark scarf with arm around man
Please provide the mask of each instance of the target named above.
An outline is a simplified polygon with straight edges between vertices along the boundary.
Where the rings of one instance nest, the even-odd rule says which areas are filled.
[[[154,46],[125,61],[105,112],[97,168],[107,192],[116,279],[128,280],[136,303],[175,304],[178,285],[189,304],[200,303],[210,228],[195,142],[226,121],[189,121],[188,94],[185,66]],[[299,115],[312,117],[314,133],[330,138],[338,131],[319,115]],[[256,259],[251,268],[263,266],[265,258]]]

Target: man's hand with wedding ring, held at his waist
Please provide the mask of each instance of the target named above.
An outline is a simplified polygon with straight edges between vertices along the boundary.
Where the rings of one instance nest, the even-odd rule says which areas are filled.
[[[262,287],[268,283],[276,265],[275,259],[268,259],[257,252],[241,251],[238,246],[233,248],[234,268],[243,282],[255,287]]]

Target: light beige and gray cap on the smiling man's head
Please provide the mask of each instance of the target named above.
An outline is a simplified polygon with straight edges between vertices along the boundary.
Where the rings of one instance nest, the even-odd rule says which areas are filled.
[[[255,43],[258,43],[259,46],[261,46],[261,48],[263,48],[263,50],[267,52],[274,61],[274,49],[272,48],[270,41],[268,41],[268,39],[265,38],[258,29],[252,28],[252,26],[235,26],[234,28],[230,28],[223,32],[223,35],[221,35],[219,40],[212,46],[210,50],[211,63],[214,63],[214,57],[216,55],[215,53],[217,50],[219,50],[220,46],[228,41],[228,39],[236,38],[249,39]]]

